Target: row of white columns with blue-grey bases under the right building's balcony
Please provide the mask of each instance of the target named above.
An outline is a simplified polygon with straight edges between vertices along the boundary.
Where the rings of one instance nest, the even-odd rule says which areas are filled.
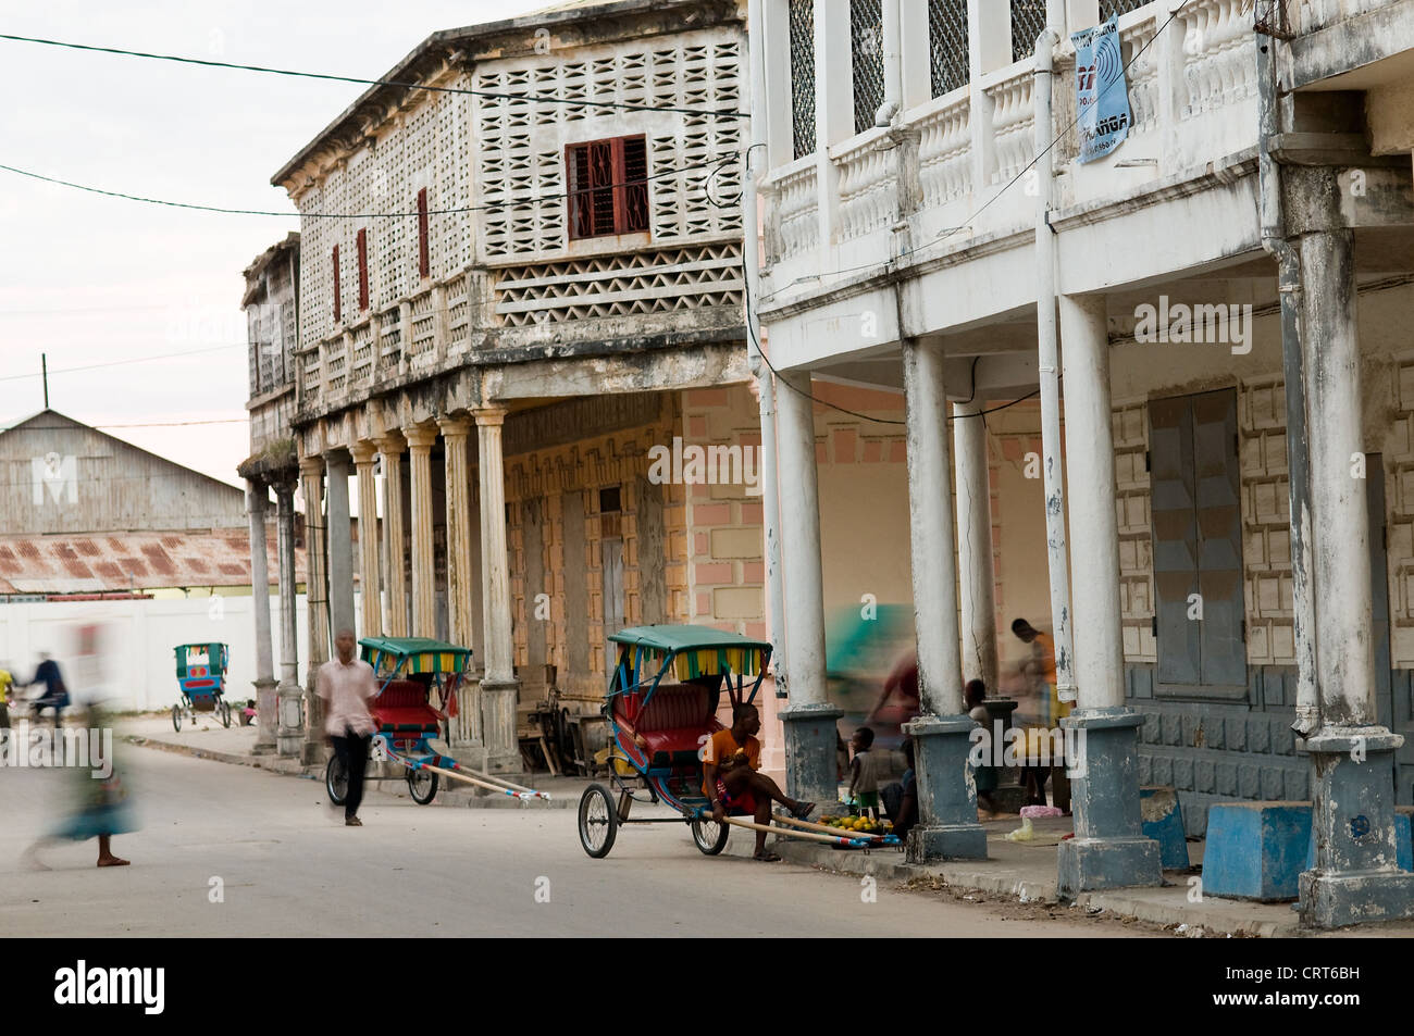
[[[1332,191],[1332,196],[1335,192]],[[1332,220],[1333,222],[1333,220]],[[1319,729],[1312,756],[1316,868],[1302,875],[1308,923],[1332,927],[1414,913],[1414,875],[1394,854],[1391,753],[1403,738],[1379,722],[1370,629],[1369,513],[1352,458],[1363,457],[1360,351],[1353,236],[1321,226],[1299,235],[1304,298],[1305,400],[1309,427],[1311,514]],[[1060,295],[1066,386],[1065,445],[1070,483],[1070,555],[1086,574],[1073,596],[1077,707],[1062,721],[1072,767],[1075,837],[1059,847],[1066,893],[1158,885],[1158,844],[1143,835],[1137,776],[1143,717],[1126,705],[1120,612],[1118,527],[1110,406],[1110,355],[1103,295]],[[957,540],[949,482],[947,397],[936,341],[902,343],[906,399],[909,527],[918,677],[923,715],[915,739],[922,824],[912,861],[986,858],[976,787],[967,762],[971,721],[962,688],[995,685],[991,514],[986,430],[976,404],[953,407]],[[823,585],[814,413],[809,373],[781,375],[778,437],[783,485],[785,628],[792,674],[786,719],[792,796],[836,797],[834,719],[824,695]],[[960,568],[960,570],[959,570]],[[963,591],[959,605],[957,587]],[[962,613],[962,628],[959,625]],[[963,644],[962,653],[959,644]],[[1072,734],[1073,732],[1073,734]],[[1072,741],[1073,736],[1073,741]],[[829,763],[829,765],[826,765]]]

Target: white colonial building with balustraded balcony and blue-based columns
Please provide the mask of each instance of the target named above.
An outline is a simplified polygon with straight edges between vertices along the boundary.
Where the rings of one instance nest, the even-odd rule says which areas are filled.
[[[1414,352],[1400,335],[1414,3],[759,13],[754,301],[781,372],[788,578],[819,565],[827,520],[807,394],[847,379],[906,404],[909,492],[877,506],[911,517],[937,717],[916,728],[928,823],[911,852],[986,854],[960,687],[997,664],[988,537],[1041,498],[988,492],[995,418],[981,411],[1038,394],[1046,534],[1027,568],[1049,572],[1069,722],[1087,735],[1062,888],[1159,881],[1138,837],[1138,787],[1155,783],[1178,789],[1195,832],[1213,803],[1312,800],[1305,916],[1408,914],[1393,845],[1414,789],[1398,736],[1414,669]],[[1089,76],[1070,34],[1110,16],[1118,55],[1099,65],[1124,69],[1126,136],[1080,161]],[[795,646],[822,598],[786,594],[792,707],[826,705],[814,653]],[[802,736],[792,752],[823,746]]]

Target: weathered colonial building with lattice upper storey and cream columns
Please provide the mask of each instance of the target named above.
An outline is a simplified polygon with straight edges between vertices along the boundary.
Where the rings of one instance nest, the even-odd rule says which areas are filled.
[[[551,683],[597,711],[615,629],[765,630],[744,16],[625,0],[436,33],[274,175],[303,213],[291,427],[327,622],[472,647],[452,741],[492,769]],[[655,468],[708,445],[734,448],[720,479]],[[354,473],[382,514],[356,557]],[[383,589],[358,615],[355,571]]]

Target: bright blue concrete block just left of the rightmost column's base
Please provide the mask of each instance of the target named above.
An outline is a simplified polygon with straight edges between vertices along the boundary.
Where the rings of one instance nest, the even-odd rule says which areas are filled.
[[[1215,803],[1203,892],[1264,903],[1295,899],[1309,842],[1311,803]]]

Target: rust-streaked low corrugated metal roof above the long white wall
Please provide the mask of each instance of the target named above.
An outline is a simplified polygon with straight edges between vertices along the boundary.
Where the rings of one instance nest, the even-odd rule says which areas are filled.
[[[266,541],[271,591],[276,534]],[[304,581],[304,550],[294,551]],[[250,534],[243,529],[75,536],[0,536],[0,594],[93,594],[164,587],[249,587]]]

